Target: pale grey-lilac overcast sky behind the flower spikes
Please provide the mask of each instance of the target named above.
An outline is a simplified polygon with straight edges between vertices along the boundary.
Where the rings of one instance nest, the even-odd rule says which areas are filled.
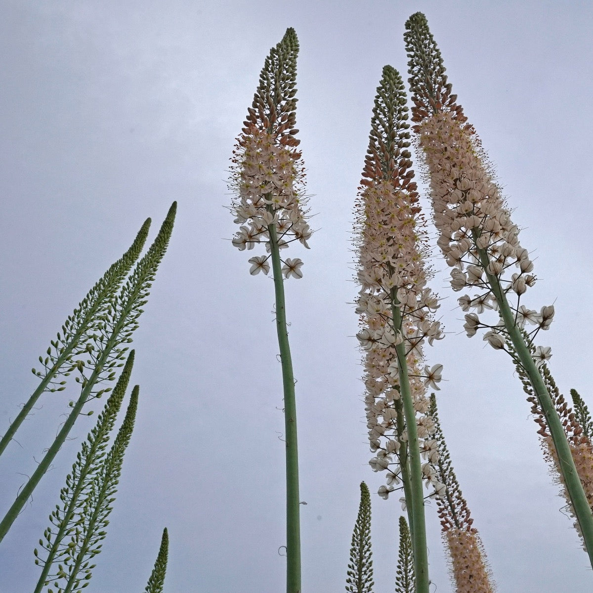
[[[393,591],[401,508],[375,494],[384,476],[368,466],[350,233],[375,89],[385,64],[407,79],[404,23],[416,11],[524,228],[539,279],[526,304],[556,307],[538,343],[552,347],[563,393],[593,406],[588,1],[0,0],[0,430],[65,318],[144,219],[151,241],[178,202],[135,334],[136,428],[89,591],[142,591],[165,526],[167,593],[285,588],[273,283],[249,275],[254,252],[231,246],[224,207],[234,138],[287,27],[301,47],[297,127],[317,229],[310,251],[290,247],[304,278],[286,283],[303,591],[344,590],[361,480],[373,493],[375,592]],[[436,252],[431,264],[447,337],[426,347],[427,362],[444,365],[442,428],[499,591],[589,590],[511,361],[465,336],[447,266]],[[44,396],[17,433],[0,463],[2,514],[76,394]],[[0,592],[33,589],[33,548],[95,417],[79,419],[2,542]],[[434,505],[427,523],[433,591],[448,593]]]

